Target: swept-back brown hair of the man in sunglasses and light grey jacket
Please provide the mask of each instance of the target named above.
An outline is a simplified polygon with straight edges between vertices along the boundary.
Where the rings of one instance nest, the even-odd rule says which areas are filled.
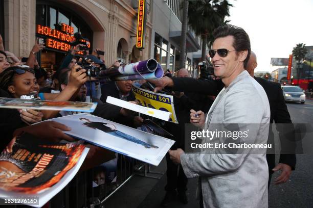
[[[229,35],[234,37],[233,47],[236,51],[248,50],[247,58],[245,58],[245,60],[243,61],[244,69],[247,68],[247,64],[251,54],[250,38],[248,34],[242,28],[236,27],[231,24],[220,26],[213,31],[214,40]]]

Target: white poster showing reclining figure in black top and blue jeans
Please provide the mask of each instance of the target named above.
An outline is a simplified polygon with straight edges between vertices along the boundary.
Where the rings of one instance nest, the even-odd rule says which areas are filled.
[[[175,142],[85,113],[50,120],[71,127],[65,134],[155,166]]]

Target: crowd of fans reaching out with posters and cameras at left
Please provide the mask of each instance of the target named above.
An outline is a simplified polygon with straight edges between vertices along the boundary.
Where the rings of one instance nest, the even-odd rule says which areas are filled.
[[[134,128],[141,126],[145,117],[142,118],[136,112],[106,103],[106,98],[107,96],[112,96],[135,103],[136,98],[132,93],[132,84],[150,89],[149,86],[145,87],[144,83],[146,81],[129,80],[100,83],[98,79],[87,76],[86,70],[81,67],[80,63],[82,59],[86,58],[85,60],[91,65],[103,67],[103,57],[97,55],[97,49],[91,55],[89,54],[90,51],[85,50],[85,56],[77,56],[77,52],[80,51],[79,48],[80,45],[73,46],[62,63],[59,63],[60,67],[56,70],[46,70],[36,60],[36,55],[40,50],[44,49],[44,45],[38,44],[38,40],[31,49],[28,58],[18,58],[10,51],[5,50],[0,36],[0,97],[20,98],[23,95],[34,95],[34,97],[41,100],[98,102],[98,106],[93,112],[94,115]],[[108,68],[119,67],[121,64],[120,61],[116,60]],[[166,71],[165,75],[172,76],[169,70]],[[177,72],[177,76],[190,77],[190,73],[187,69],[181,69]],[[170,137],[170,139],[176,140],[175,145],[172,147],[173,149],[178,147],[184,148],[184,136],[182,134],[184,134],[184,123],[189,123],[190,109],[199,109],[207,112],[212,99],[197,93],[172,92],[172,95],[174,95],[175,112],[180,124],[162,122],[160,120],[154,121],[173,134],[173,137]],[[63,124],[54,121],[36,124],[42,120],[74,113],[77,112],[1,109],[1,127],[4,129],[5,134],[4,139],[1,140],[1,148],[12,151],[15,138],[24,133],[30,133],[39,139],[47,141],[60,142],[65,140],[77,142],[76,139],[63,133],[63,131],[70,130],[69,127]],[[109,150],[92,144],[87,144],[87,146],[90,147],[90,151],[81,170],[96,167],[116,157],[115,153]],[[173,164],[169,157],[167,157],[167,162],[169,183],[166,186],[166,190],[174,191],[177,188],[178,166]],[[96,177],[98,176],[99,174]],[[178,178],[180,180],[183,179],[179,183],[181,186],[178,187],[178,192],[180,192],[182,200],[187,203],[185,194],[187,178],[184,176],[182,168]]]

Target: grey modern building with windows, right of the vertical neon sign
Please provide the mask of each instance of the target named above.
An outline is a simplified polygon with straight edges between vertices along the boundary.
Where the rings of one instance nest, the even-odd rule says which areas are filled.
[[[182,0],[151,1],[152,30],[151,30],[151,58],[156,59],[164,70],[172,73],[179,69],[181,55],[180,41],[182,36]],[[186,61],[191,75],[197,72],[194,53],[200,52],[200,38],[194,32],[187,30]],[[201,56],[201,55],[200,55]]]

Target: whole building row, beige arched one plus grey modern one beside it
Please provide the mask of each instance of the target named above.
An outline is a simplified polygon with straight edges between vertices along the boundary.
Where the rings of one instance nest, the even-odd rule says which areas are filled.
[[[0,0],[0,34],[6,50],[28,57],[36,38],[44,48],[37,60],[45,69],[56,69],[74,34],[87,38],[90,51],[105,52],[107,66],[115,60],[132,63],[156,59],[164,70],[179,68],[182,35],[182,0],[145,1],[145,41],[136,47],[138,0]],[[187,30],[186,65],[198,75],[202,44]]]

